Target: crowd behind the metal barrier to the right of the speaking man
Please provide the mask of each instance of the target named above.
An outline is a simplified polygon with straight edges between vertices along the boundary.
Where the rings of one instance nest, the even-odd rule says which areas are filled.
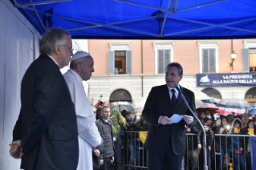
[[[249,119],[249,115],[244,113],[236,117],[234,114],[230,114],[214,119],[213,114],[209,111],[199,111],[197,115],[205,128],[206,135],[208,135],[206,138],[208,169],[230,169],[230,166],[234,167],[234,170],[251,169],[250,140],[249,137],[240,135],[254,136],[254,117]],[[197,123],[191,129],[185,128],[187,133],[197,134],[197,137],[188,136],[187,138],[189,152],[186,153],[186,156],[189,157],[189,162],[186,166],[189,169],[204,169],[201,127]],[[244,155],[246,155],[246,159]],[[215,161],[216,164],[214,164]]]

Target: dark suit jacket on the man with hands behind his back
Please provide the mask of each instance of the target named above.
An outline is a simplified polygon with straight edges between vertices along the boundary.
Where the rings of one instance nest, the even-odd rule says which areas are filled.
[[[21,111],[13,140],[22,140],[21,168],[75,170],[79,146],[75,107],[59,67],[47,55],[22,78]]]

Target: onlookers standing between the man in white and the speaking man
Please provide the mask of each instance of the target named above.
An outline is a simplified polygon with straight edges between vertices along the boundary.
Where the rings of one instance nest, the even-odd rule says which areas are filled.
[[[101,105],[96,107],[96,125],[104,142],[92,152],[94,169],[115,168],[116,170],[122,170],[128,169],[128,167],[135,169],[135,166],[140,166],[141,161],[143,161],[138,156],[139,146],[142,146],[143,144],[141,144],[139,134],[136,132],[148,131],[148,123],[142,119],[140,115],[135,115],[135,112],[123,110],[121,111],[121,115],[126,119],[128,125],[124,128],[122,124],[123,122],[119,120],[120,132],[116,137],[113,137],[112,129],[110,128],[112,122],[109,119],[110,108]],[[135,133],[131,133],[131,131],[134,131]],[[125,132],[126,135],[124,135]],[[100,154],[97,154],[99,151]],[[113,153],[115,153],[115,156]],[[144,152],[144,154],[145,153],[146,152]],[[144,156],[144,159],[146,160],[146,155]],[[115,160],[115,166],[112,166],[112,164],[104,165],[108,160],[110,160],[109,163],[113,163]],[[130,166],[124,167],[124,164]],[[108,168],[104,168],[103,166]]]

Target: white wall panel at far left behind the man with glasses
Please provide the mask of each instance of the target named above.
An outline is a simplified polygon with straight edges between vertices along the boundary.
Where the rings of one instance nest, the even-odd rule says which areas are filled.
[[[20,110],[22,76],[39,56],[40,34],[8,0],[0,0],[0,23],[0,169],[13,170],[20,160],[10,156],[8,144]]]

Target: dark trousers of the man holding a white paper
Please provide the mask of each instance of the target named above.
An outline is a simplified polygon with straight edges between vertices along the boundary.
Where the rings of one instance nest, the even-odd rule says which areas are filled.
[[[180,170],[182,156],[173,153],[170,144],[163,152],[151,152],[148,150],[148,170]]]

